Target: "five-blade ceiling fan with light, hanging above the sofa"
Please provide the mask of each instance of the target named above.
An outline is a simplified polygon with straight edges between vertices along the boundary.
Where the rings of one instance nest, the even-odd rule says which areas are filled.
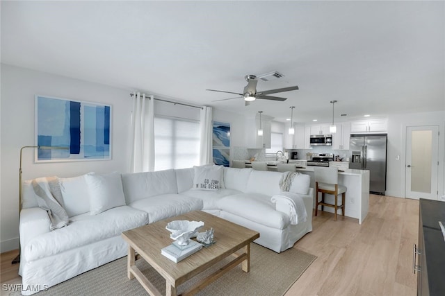
[[[268,94],[275,94],[278,92],[289,92],[291,90],[298,89],[298,86],[294,87],[283,87],[280,89],[269,89],[262,92],[257,92],[257,76],[254,75],[246,75],[245,80],[248,82],[248,85],[244,87],[243,93],[240,94],[238,92],[225,92],[223,90],[216,90],[216,89],[206,89],[211,92],[225,92],[227,94],[237,94],[238,96],[236,98],[244,98],[245,105],[250,105],[250,102],[255,101],[257,98],[263,99],[263,100],[273,100],[273,101],[286,101],[287,98],[280,98],[279,96],[267,96]],[[222,100],[216,100],[213,102],[218,101],[227,101],[232,100],[234,98],[223,98]]]

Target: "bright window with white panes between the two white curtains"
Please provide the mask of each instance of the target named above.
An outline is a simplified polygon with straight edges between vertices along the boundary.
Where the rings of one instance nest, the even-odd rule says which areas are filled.
[[[154,118],[154,170],[200,164],[200,123],[171,117]]]

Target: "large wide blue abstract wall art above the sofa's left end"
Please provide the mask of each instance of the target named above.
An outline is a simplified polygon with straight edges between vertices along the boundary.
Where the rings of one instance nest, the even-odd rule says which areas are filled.
[[[111,159],[111,106],[35,96],[35,162]]]

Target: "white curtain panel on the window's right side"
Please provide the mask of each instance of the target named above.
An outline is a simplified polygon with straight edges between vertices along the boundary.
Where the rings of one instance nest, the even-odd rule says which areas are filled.
[[[213,162],[211,107],[202,107],[200,119],[200,165],[202,166]]]

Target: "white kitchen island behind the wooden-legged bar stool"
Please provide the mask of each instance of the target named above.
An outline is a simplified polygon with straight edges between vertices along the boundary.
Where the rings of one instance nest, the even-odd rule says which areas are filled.
[[[311,187],[315,189],[314,167],[296,168],[296,171],[311,176]],[[339,171],[339,184],[346,186],[345,216],[356,218],[362,224],[369,211],[369,171],[346,169]],[[325,195],[325,201],[334,203],[333,195]],[[314,206],[315,208],[315,191]],[[325,207],[324,211],[334,213],[334,209]],[[341,211],[339,211],[339,214]]]

